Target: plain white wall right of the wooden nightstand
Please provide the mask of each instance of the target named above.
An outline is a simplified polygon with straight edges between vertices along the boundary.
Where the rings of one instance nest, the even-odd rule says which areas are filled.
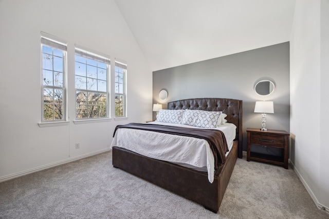
[[[290,160],[329,210],[328,0],[297,0],[290,40]],[[321,22],[320,22],[321,21]]]

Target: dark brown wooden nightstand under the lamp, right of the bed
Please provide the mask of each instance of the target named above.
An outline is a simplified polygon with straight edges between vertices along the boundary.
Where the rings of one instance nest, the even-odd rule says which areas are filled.
[[[247,161],[262,161],[288,169],[289,135],[288,132],[281,130],[261,131],[261,129],[247,128]],[[282,150],[282,156],[250,152],[250,145],[279,148]]]

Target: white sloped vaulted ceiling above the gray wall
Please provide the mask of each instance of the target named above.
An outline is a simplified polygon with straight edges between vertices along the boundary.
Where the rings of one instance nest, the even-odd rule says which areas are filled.
[[[296,0],[115,0],[152,71],[289,41]]]

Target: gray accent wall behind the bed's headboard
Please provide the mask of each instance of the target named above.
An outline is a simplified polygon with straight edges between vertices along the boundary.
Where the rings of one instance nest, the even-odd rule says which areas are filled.
[[[255,93],[254,85],[262,79],[275,84],[273,93]],[[168,91],[165,101],[159,98],[162,89]],[[274,113],[266,115],[266,128],[289,132],[289,93],[289,42],[153,72],[153,103],[164,109],[179,99],[242,99],[244,150],[246,128],[261,128],[261,114],[253,112],[255,101],[273,101]]]

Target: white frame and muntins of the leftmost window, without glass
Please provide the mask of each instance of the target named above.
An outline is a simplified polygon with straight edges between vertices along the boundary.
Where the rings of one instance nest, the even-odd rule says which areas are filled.
[[[45,77],[44,77],[44,71],[49,71],[48,69],[45,69],[44,63],[43,63],[43,57],[44,54],[49,54],[45,53],[43,50],[43,47],[48,47],[51,48],[52,51],[52,85],[45,85]],[[62,51],[62,86],[56,86],[54,85],[54,72],[59,72],[54,70],[54,65],[53,65],[53,57],[54,57],[54,49]],[[52,36],[50,34],[41,32],[41,47],[40,47],[40,54],[41,54],[41,124],[47,124],[51,123],[52,125],[56,123],[63,123],[67,122],[67,43],[63,39],[60,39],[56,36]],[[55,55],[56,56],[56,55]],[[58,56],[57,56],[58,57]],[[53,119],[52,120],[45,120],[45,96],[44,92],[45,89],[58,89],[62,90],[62,118],[61,119],[56,119],[55,113],[56,109],[55,103],[52,103],[53,105]],[[53,92],[54,94],[54,92]],[[54,101],[55,98],[53,98]],[[40,127],[45,126],[39,124]],[[66,124],[66,123],[64,123]]]

